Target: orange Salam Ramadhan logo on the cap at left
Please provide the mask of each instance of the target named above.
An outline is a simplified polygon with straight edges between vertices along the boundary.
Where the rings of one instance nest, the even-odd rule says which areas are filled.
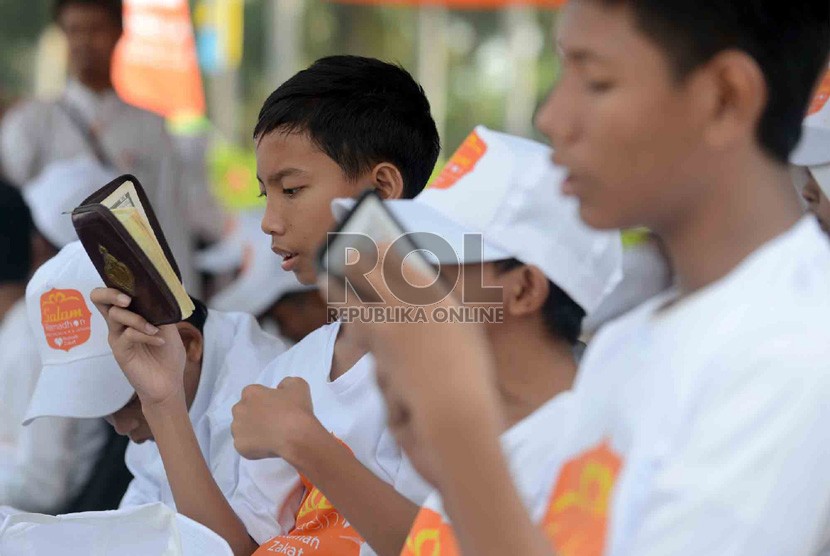
[[[40,322],[52,349],[69,351],[89,340],[92,314],[78,290],[52,289],[40,296]]]

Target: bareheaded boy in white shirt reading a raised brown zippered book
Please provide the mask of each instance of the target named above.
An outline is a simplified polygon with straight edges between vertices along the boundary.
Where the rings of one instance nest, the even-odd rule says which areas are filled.
[[[413,197],[429,179],[439,150],[423,89],[400,67],[353,56],[319,60],[281,85],[265,102],[254,137],[257,174],[267,196],[262,229],[283,258],[283,270],[307,285],[316,282],[316,254],[333,224],[331,201],[357,196],[366,187],[385,198]],[[235,553],[253,553],[268,539],[289,534],[292,546],[286,553],[317,546],[329,554],[357,554],[362,539],[336,508],[355,505],[350,516],[369,523],[377,508],[410,512],[394,490],[400,453],[388,434],[384,440],[384,410],[371,361],[353,342],[351,326],[329,325],[307,336],[266,369],[260,381],[267,387],[243,393],[253,417],[248,426],[234,427],[235,445],[248,458],[269,459],[241,463],[231,506],[210,477],[184,418],[183,350],[175,331],[149,326],[126,310],[130,299],[117,291],[96,290],[92,299],[108,316],[113,353],[142,400],[179,511],[219,533]],[[254,399],[261,403],[250,403]],[[366,484],[372,490],[363,491],[365,498],[332,495],[327,488],[333,508],[313,485],[300,482],[281,450],[297,440],[291,436],[296,420],[316,420],[349,448],[340,449],[326,434],[321,440],[334,442],[332,455],[340,466],[334,473],[321,470],[319,477],[304,475],[315,483],[331,480],[335,490],[342,487],[338,493]],[[343,423],[351,426],[338,428]],[[274,444],[280,446],[274,449]],[[391,474],[382,474],[385,481],[378,484],[374,472],[380,468]],[[262,480],[246,479],[252,474]],[[297,486],[298,496],[286,494]],[[260,487],[264,491],[257,493]],[[400,488],[416,501],[427,494],[421,484]],[[304,496],[313,509],[300,506]],[[280,519],[284,515],[288,522]],[[304,523],[303,529],[292,530]]]

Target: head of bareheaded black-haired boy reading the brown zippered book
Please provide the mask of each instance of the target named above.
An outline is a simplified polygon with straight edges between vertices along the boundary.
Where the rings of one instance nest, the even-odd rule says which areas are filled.
[[[334,221],[330,203],[374,188],[412,198],[440,141],[423,88],[400,66],[331,56],[280,85],[254,129],[262,231],[282,268],[316,280],[315,255]]]

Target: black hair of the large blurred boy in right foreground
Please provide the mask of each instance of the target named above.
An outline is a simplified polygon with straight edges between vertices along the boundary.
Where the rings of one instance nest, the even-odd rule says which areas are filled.
[[[830,54],[827,0],[590,0],[628,6],[640,29],[668,55],[681,79],[725,50],[761,67],[768,99],[761,147],[786,163]]]

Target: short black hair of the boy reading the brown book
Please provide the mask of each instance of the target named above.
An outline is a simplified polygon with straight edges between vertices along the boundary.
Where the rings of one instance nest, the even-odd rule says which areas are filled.
[[[352,180],[394,164],[405,198],[427,184],[441,148],[424,89],[402,67],[360,56],[321,58],[280,85],[254,140],[276,130],[307,133]]]

